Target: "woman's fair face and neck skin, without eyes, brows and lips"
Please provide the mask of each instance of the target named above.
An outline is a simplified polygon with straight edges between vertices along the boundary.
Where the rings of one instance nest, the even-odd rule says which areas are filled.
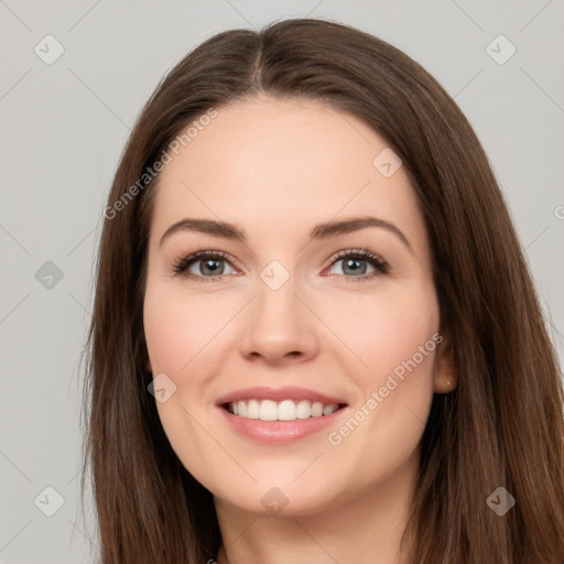
[[[251,98],[218,108],[161,174],[143,312],[148,368],[176,384],[159,415],[184,466],[215,496],[220,564],[400,562],[424,423],[433,394],[452,390],[456,375],[415,193],[404,167],[384,177],[372,164],[387,147],[322,102]],[[314,225],[357,216],[392,223],[412,249],[379,227],[308,241]],[[184,230],[160,243],[184,218],[229,221],[247,240]],[[390,271],[364,280],[345,271],[335,254],[359,248]],[[200,281],[205,260],[191,267],[200,279],[175,274],[175,261],[198,250],[237,262],[219,260],[214,282]],[[275,291],[260,278],[272,260],[290,274]],[[373,271],[362,258],[360,267]],[[444,340],[329,444],[327,434],[437,333]],[[300,386],[348,408],[330,429],[261,444],[215,406],[253,386]],[[288,500],[276,516],[261,502],[272,488]]]

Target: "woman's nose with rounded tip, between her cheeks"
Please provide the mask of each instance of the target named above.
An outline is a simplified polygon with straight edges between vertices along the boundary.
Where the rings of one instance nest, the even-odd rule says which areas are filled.
[[[240,340],[247,360],[286,365],[317,354],[316,319],[300,297],[292,278],[278,290],[259,280],[258,295],[245,312]]]

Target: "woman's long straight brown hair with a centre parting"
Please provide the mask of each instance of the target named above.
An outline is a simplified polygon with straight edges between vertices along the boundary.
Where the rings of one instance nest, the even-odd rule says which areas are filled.
[[[101,562],[203,564],[221,542],[213,496],[172,451],[148,392],[142,304],[159,176],[147,171],[210,108],[262,94],[324,101],[364,120],[402,159],[424,215],[458,386],[433,400],[404,533],[408,561],[562,563],[562,375],[488,159],[417,63],[314,19],[228,31],[199,45],[159,85],[121,156],[85,349],[83,490],[89,469]],[[517,500],[502,517],[486,502],[498,487]]]

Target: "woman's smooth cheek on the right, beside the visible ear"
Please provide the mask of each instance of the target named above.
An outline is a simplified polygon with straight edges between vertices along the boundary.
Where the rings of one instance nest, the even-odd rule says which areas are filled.
[[[395,290],[349,300],[334,311],[330,321],[359,359],[354,373],[348,369],[359,390],[351,413],[358,426],[350,422],[347,429],[334,430],[332,444],[347,443],[350,456],[360,447],[373,464],[379,455],[367,453],[384,451],[401,459],[415,448],[434,393],[434,359],[441,340],[436,294],[423,284]],[[379,445],[376,451],[375,445]]]

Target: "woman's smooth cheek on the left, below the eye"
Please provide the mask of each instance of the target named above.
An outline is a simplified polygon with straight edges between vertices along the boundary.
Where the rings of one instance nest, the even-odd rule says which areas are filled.
[[[229,322],[237,305],[232,296],[198,297],[182,284],[148,282],[143,323],[153,377],[164,373],[175,386],[170,399],[156,406],[172,447],[185,463],[185,453],[202,456],[208,442],[198,422],[207,416],[214,400],[210,382],[232,347],[226,339],[232,339]]]

